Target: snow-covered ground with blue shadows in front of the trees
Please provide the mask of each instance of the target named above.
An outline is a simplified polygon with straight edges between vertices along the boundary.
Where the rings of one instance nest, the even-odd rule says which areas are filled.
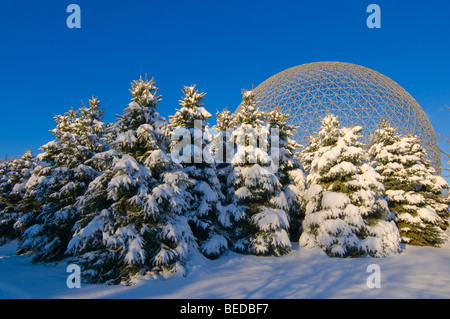
[[[148,276],[132,286],[82,283],[69,289],[67,263],[32,264],[30,256],[15,255],[13,242],[0,247],[0,298],[449,298],[450,244],[403,248],[383,259],[329,258],[298,244],[278,258],[192,255],[186,277]],[[367,286],[371,264],[380,267],[380,288]]]

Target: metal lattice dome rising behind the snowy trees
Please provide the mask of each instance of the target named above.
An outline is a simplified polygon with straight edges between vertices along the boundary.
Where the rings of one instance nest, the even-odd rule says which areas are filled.
[[[303,64],[272,76],[254,92],[261,110],[280,108],[289,114],[289,123],[297,127],[294,139],[302,145],[328,113],[342,126],[362,126],[364,142],[386,119],[400,133],[417,135],[439,170],[438,142],[427,115],[405,89],[374,70],[342,62]]]

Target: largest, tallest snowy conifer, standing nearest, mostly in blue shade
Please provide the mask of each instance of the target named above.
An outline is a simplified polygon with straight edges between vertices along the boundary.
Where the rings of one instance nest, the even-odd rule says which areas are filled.
[[[78,201],[82,218],[68,252],[88,282],[119,283],[148,271],[184,271],[194,238],[185,211],[189,177],[166,153],[167,121],[154,79],[133,81],[132,102],[108,129],[111,149],[90,161],[102,172]]]

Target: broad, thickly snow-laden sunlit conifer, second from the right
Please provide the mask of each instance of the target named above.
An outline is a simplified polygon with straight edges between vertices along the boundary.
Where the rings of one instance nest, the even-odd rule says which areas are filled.
[[[381,177],[366,163],[361,127],[340,128],[331,114],[313,139],[302,247],[329,256],[383,257],[399,251],[400,235],[383,199]]]

